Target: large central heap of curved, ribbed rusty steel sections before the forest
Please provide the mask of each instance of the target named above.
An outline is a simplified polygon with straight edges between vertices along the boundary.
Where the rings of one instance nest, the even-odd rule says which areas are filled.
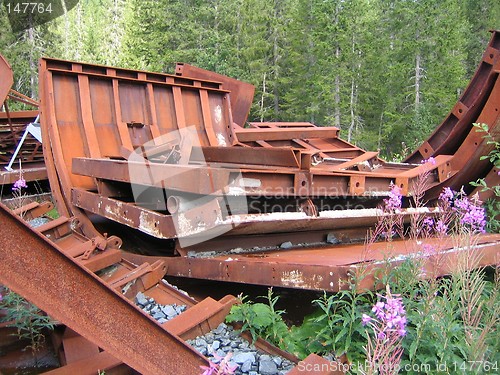
[[[44,155],[56,205],[87,236],[97,215],[156,239],[154,252],[135,251],[162,256],[169,275],[335,291],[348,265],[366,260],[364,247],[350,243],[376,223],[393,184],[407,197],[401,216],[410,220],[422,176],[427,199],[479,177],[498,181],[481,160],[492,146],[472,123],[499,132],[499,39],[494,32],[461,101],[405,163],[349,144],[337,128],[244,127],[252,87],[188,64],[168,75],[42,59]],[[462,102],[471,111],[453,125]],[[425,152],[436,137],[445,144]],[[491,255],[497,239],[484,241]],[[357,259],[340,257],[338,244]],[[406,247],[401,241],[396,255]]]

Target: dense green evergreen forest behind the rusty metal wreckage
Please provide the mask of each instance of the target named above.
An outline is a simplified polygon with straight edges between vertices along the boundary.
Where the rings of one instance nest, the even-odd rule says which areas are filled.
[[[80,0],[19,33],[0,5],[0,53],[33,97],[42,55],[167,73],[190,63],[253,83],[251,120],[338,126],[392,157],[449,112],[495,28],[497,0]]]

